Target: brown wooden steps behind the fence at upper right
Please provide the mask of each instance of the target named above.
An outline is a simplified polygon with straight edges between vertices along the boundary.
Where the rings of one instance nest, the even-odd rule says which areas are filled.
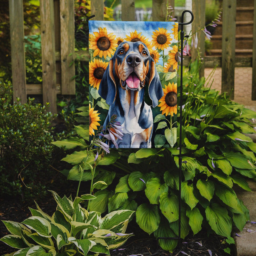
[[[253,0],[236,1],[236,57],[252,57],[253,44]],[[222,22],[217,23],[212,35],[210,55],[221,56]]]

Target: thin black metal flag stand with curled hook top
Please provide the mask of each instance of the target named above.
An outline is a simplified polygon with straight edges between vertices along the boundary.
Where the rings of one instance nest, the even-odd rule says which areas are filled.
[[[184,14],[186,12],[189,12],[191,14],[191,20],[189,22],[185,22],[184,23]],[[178,237],[158,237],[157,240],[159,239],[178,239],[179,240],[179,247],[181,247],[181,237],[180,237],[180,230],[181,230],[181,165],[182,163],[186,164],[187,161],[182,161],[182,156],[181,156],[181,146],[182,146],[182,129],[181,129],[181,122],[182,122],[182,83],[183,83],[183,40],[184,37],[188,37],[188,36],[184,36],[184,30],[183,30],[183,26],[184,25],[188,25],[191,24],[192,21],[194,20],[194,14],[193,12],[189,11],[189,10],[185,10],[182,12],[181,14],[181,22],[179,22],[179,25],[181,26],[181,31],[180,31],[180,42],[181,42],[181,59],[180,59],[180,146],[179,146],[179,150],[180,150],[180,154],[179,154],[179,233],[178,233]]]

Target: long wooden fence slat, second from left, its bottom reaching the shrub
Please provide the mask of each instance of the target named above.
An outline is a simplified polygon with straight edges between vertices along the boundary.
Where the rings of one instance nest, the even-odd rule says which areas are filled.
[[[52,0],[40,1],[41,44],[43,70],[43,102],[50,102],[49,110],[57,113],[56,63],[54,37],[54,8]]]

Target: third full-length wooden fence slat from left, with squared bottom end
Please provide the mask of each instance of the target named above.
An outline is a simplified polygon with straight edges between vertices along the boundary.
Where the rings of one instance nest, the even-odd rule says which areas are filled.
[[[62,94],[76,94],[75,79],[72,79],[72,77],[75,76],[74,5],[74,0],[60,0],[60,58]]]

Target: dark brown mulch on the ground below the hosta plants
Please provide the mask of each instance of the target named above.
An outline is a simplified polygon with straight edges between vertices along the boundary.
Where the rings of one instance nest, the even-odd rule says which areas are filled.
[[[70,190],[72,194],[75,194],[76,185],[71,184],[70,187],[65,187],[57,189],[57,193],[60,196],[63,196],[65,191]],[[61,191],[62,190],[62,191]],[[52,197],[52,194],[49,192],[47,200],[38,200],[37,204],[40,208],[51,215],[56,210],[56,203]],[[31,213],[28,207],[36,208],[34,202],[25,203],[21,201],[21,198],[8,198],[1,197],[0,199],[0,219],[1,220],[12,220],[21,222],[31,216]],[[116,250],[111,250],[111,256],[178,256],[178,255],[190,255],[190,256],[227,256],[229,254],[224,252],[224,249],[229,247],[231,249],[230,254],[235,255],[234,248],[231,245],[223,243],[224,238],[221,236],[210,235],[207,236],[205,230],[199,232],[196,236],[189,234],[185,240],[181,241],[181,247],[177,246],[173,253],[164,251],[158,244],[153,235],[148,236],[147,233],[142,231],[135,220],[132,220],[127,228],[127,233],[134,233],[134,236],[130,237],[127,242]],[[3,237],[8,234],[7,229],[5,228],[3,222],[0,222],[0,237]],[[3,242],[0,242],[0,255],[5,253],[11,253],[15,251],[11,247],[7,246]]]

